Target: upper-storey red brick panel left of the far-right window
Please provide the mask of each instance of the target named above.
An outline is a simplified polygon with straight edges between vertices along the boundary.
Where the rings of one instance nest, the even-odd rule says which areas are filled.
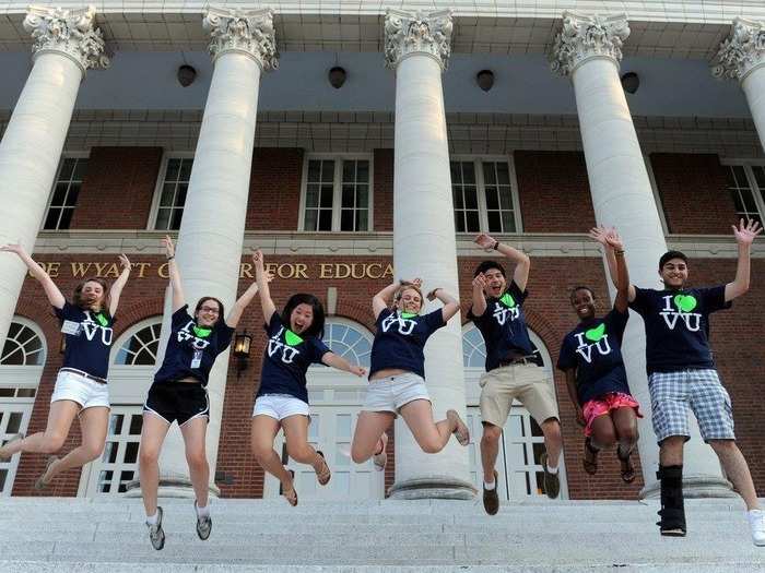
[[[650,164],[670,232],[730,232],[735,205],[717,155],[655,153]]]

